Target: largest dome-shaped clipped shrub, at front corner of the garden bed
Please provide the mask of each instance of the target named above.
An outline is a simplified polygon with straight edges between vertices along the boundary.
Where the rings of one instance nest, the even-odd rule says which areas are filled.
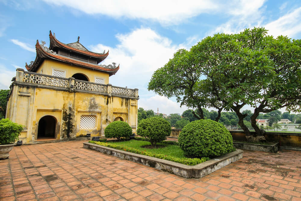
[[[230,132],[210,119],[192,121],[178,137],[179,146],[190,157],[214,158],[235,150]]]

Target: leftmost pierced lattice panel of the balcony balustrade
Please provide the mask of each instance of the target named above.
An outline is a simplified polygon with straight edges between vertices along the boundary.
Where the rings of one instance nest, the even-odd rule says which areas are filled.
[[[24,73],[23,82],[36,83],[36,84],[42,84],[47,86],[58,86],[64,88],[67,88],[69,84],[68,80],[64,80],[56,77],[29,74],[29,73]]]

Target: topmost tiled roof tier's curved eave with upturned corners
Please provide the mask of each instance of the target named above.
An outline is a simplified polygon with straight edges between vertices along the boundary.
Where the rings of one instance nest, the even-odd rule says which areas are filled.
[[[84,54],[84,55],[96,58],[97,61],[99,61],[99,62],[103,61],[109,55],[109,51],[107,51],[107,53],[105,53],[105,54],[99,54],[99,53],[90,52],[90,51],[84,51],[84,50],[80,50],[80,49],[76,49],[76,48],[73,48],[71,46],[68,46],[67,44],[58,41],[52,35],[51,31],[49,33],[49,39],[50,39],[50,47],[49,47],[49,49],[53,49],[54,47],[59,47],[59,48],[63,48],[63,49],[69,50],[69,51],[71,50],[73,52],[77,52],[77,53],[80,53],[80,54]]]

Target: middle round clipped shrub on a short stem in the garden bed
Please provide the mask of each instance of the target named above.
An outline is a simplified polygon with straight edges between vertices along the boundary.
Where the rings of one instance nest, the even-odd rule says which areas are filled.
[[[166,140],[166,137],[171,133],[170,123],[161,117],[150,117],[140,121],[137,128],[137,134],[145,137],[151,143],[151,146],[156,146],[157,143]]]

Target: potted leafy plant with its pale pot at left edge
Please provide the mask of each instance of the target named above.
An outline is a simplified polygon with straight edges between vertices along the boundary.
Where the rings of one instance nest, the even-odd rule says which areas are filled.
[[[23,126],[12,122],[10,119],[0,120],[0,159],[7,159],[9,152],[14,147],[14,142],[19,140]]]

